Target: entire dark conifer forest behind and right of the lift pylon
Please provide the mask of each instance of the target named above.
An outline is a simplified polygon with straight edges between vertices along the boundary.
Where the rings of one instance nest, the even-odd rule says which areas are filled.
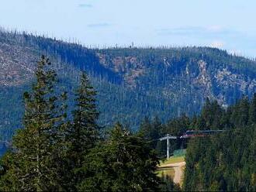
[[[185,156],[185,191],[255,191],[256,173],[256,94],[246,96],[222,108],[206,99],[198,116],[171,119],[161,124],[146,118],[140,125],[144,138],[154,140],[165,134],[183,135],[186,130],[222,129],[217,135],[171,141],[171,151],[187,148]],[[165,143],[155,141],[151,147],[163,156]]]

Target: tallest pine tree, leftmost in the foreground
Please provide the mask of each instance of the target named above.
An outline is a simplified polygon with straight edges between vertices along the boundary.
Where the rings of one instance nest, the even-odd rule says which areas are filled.
[[[36,84],[24,94],[24,129],[14,136],[14,151],[4,158],[9,163],[1,178],[5,190],[61,190],[57,135],[65,115],[60,114],[55,82],[56,74],[43,56],[37,63]]]

